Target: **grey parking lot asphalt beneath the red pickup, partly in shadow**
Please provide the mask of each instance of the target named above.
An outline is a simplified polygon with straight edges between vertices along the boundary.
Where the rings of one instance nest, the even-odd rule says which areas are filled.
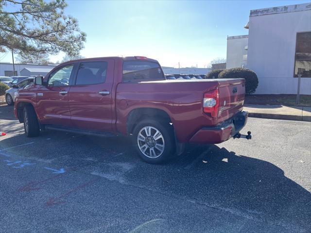
[[[0,106],[0,232],[311,232],[311,123],[249,118],[253,139],[163,165],[130,138],[27,138]]]

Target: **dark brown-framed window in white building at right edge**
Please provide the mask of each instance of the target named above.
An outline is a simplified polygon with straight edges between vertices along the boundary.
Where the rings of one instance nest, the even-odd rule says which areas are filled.
[[[311,78],[311,32],[297,33],[294,77]]]

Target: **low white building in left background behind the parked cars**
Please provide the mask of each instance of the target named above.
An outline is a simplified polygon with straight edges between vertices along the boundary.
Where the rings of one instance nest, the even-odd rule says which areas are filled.
[[[13,64],[0,62],[0,76],[30,76],[46,75],[56,65],[34,65],[34,64],[15,64],[15,74]]]

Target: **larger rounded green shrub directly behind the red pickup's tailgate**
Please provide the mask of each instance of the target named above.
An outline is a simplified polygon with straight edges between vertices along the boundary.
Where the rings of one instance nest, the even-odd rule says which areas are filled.
[[[253,70],[245,68],[225,69],[218,75],[219,79],[245,79],[245,93],[252,94],[258,86],[258,78]]]

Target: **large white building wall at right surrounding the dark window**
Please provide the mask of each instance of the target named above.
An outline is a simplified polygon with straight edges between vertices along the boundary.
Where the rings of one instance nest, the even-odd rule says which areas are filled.
[[[301,9],[301,5],[251,11],[247,67],[259,78],[256,94],[297,93],[296,33],[311,31],[311,10],[290,11]],[[286,13],[280,13],[283,11]],[[311,78],[301,79],[300,94],[311,95]]]

